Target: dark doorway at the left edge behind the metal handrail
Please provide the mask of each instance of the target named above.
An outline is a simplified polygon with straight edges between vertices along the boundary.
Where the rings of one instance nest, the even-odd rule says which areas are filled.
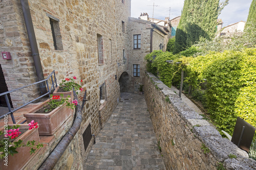
[[[0,64],[0,94],[3,92],[8,91],[6,82],[5,82],[5,76],[4,76],[4,72],[2,69],[2,66]],[[12,101],[11,101],[11,96],[10,94],[8,94],[8,98],[12,107]],[[7,103],[5,101],[5,95],[0,96],[0,107],[7,107]]]

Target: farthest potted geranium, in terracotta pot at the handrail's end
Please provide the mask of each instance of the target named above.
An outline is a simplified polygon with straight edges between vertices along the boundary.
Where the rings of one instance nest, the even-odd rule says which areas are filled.
[[[75,90],[83,90],[83,88],[75,83],[76,77],[74,76],[73,79],[66,78],[65,80],[62,80],[62,83],[59,84],[58,87],[53,91],[53,95],[60,95],[63,94],[63,97],[67,98],[67,96],[71,96],[71,99],[73,101],[74,94],[73,94],[73,87]],[[82,82],[82,80],[81,80]],[[77,92],[78,94],[78,92]]]

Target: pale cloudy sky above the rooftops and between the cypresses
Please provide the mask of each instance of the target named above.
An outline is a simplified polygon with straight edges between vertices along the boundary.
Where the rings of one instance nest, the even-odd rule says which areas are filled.
[[[180,16],[184,4],[184,0],[131,0],[131,2],[132,17],[138,18],[141,12],[145,12],[152,18],[155,3],[154,18],[162,20],[169,15],[170,18]],[[229,4],[224,7],[219,16],[224,22],[223,27],[241,20],[246,21],[251,2],[252,0],[229,0]]]

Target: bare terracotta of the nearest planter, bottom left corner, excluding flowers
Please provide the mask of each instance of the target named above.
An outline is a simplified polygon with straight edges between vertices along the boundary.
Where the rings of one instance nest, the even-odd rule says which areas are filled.
[[[11,125],[9,125],[11,126]],[[38,127],[39,128],[39,127]],[[29,140],[36,141],[36,144],[39,142],[39,135],[38,135],[38,128],[34,128],[29,130],[28,124],[20,124],[19,131],[22,131],[23,129],[26,130],[25,133],[21,134],[17,139],[14,140],[18,141],[23,140],[23,143],[27,143]],[[40,128],[39,128],[40,129]],[[36,147],[33,147],[34,149]],[[19,147],[16,149],[18,152],[17,154],[14,154],[13,156],[8,155],[8,166],[5,165],[6,162],[4,162],[4,159],[0,159],[0,167],[3,170],[8,170],[8,169],[23,169],[29,162],[30,160],[39,152],[40,149],[37,149],[35,153],[30,155],[30,147]]]

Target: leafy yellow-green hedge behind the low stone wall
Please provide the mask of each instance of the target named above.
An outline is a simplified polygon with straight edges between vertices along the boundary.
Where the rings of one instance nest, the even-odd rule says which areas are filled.
[[[208,52],[198,57],[157,54],[151,68],[168,87],[179,83],[181,68],[186,73],[184,83],[194,88],[206,84],[206,108],[220,131],[232,135],[237,116],[256,127],[256,48]],[[174,64],[166,60],[174,60]],[[182,64],[175,64],[178,61]]]

